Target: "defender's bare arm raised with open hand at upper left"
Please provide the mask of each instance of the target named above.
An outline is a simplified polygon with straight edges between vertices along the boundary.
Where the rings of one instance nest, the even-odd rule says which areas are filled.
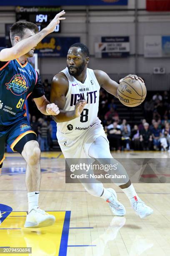
[[[61,17],[65,14],[65,11],[57,13],[55,18],[50,22],[50,24],[42,29],[39,33],[30,35],[30,37],[22,39],[20,36],[15,36],[15,43],[11,48],[5,48],[0,51],[0,61],[10,61],[17,59],[20,56],[25,55],[31,49],[34,49],[35,46],[49,33],[52,33],[55,30],[55,27],[60,23],[60,20],[65,20]]]

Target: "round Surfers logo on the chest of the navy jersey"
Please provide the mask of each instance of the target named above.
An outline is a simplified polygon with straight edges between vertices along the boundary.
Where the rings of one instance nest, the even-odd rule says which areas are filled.
[[[27,79],[23,74],[16,74],[5,85],[7,86],[7,90],[10,90],[15,95],[22,95],[29,89]]]

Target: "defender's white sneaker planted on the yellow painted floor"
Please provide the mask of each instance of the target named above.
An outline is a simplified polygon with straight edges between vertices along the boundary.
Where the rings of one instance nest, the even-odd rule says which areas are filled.
[[[55,217],[41,210],[38,207],[37,209],[32,209],[28,213],[24,227],[25,228],[42,228],[42,227],[50,226],[54,223],[55,223]]]

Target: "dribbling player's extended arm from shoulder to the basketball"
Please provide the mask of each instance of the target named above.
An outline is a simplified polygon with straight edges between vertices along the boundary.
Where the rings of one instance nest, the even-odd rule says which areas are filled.
[[[117,82],[113,81],[108,74],[106,74],[102,70],[94,70],[95,76],[97,78],[98,83],[100,84],[100,87],[105,89],[110,94],[117,97],[117,87],[119,84]]]

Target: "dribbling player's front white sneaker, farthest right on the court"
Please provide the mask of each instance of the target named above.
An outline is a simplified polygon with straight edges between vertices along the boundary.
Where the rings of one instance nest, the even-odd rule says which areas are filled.
[[[147,206],[139,197],[133,197],[130,200],[133,210],[141,219],[153,213],[153,209]]]

